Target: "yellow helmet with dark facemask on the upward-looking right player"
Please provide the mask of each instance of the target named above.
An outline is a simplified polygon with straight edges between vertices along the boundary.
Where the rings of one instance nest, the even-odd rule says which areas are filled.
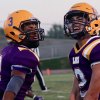
[[[83,19],[77,18],[76,21],[73,21],[72,17],[79,16]],[[94,26],[92,23],[94,20],[98,20],[97,11],[87,3],[77,3],[73,5],[70,10],[64,16],[64,31],[67,36],[71,36],[74,39],[80,39],[85,34],[95,35]],[[92,24],[91,24],[92,23]],[[79,27],[74,27],[76,24],[79,24]],[[82,30],[80,30],[80,26],[84,26]],[[92,27],[91,27],[92,25]],[[75,31],[75,30],[78,31]]]

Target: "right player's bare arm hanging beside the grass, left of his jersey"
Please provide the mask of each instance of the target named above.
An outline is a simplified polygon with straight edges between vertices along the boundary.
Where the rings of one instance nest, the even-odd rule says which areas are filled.
[[[80,97],[79,97],[78,81],[76,78],[74,78],[72,91],[70,93],[70,100],[80,100],[79,98]]]

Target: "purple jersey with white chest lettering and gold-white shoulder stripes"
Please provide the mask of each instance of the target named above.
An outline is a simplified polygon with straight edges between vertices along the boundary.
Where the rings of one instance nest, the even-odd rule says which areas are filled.
[[[80,95],[84,97],[91,80],[91,67],[100,63],[100,37],[91,37],[80,49],[77,48],[76,44],[69,54],[69,60],[79,82]]]

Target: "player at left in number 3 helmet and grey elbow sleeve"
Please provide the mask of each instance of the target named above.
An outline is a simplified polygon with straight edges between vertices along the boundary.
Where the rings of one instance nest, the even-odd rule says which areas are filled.
[[[4,31],[9,43],[0,56],[0,100],[24,100],[39,65],[31,48],[39,46],[44,29],[32,13],[18,10],[5,20]],[[43,100],[34,97],[33,100]]]

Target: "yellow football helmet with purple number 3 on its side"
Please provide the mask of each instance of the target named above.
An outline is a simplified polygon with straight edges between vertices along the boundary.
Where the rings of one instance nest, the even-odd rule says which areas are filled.
[[[38,41],[44,39],[44,29],[40,28],[40,21],[27,10],[18,10],[11,13],[4,22],[5,36],[8,41],[15,41],[18,43],[27,40],[30,42],[30,34],[32,31],[25,32],[23,26],[29,24],[36,24],[37,29],[34,30],[38,34]],[[33,33],[34,33],[33,32]],[[33,40],[34,42],[35,40]],[[31,41],[32,42],[32,41]]]

